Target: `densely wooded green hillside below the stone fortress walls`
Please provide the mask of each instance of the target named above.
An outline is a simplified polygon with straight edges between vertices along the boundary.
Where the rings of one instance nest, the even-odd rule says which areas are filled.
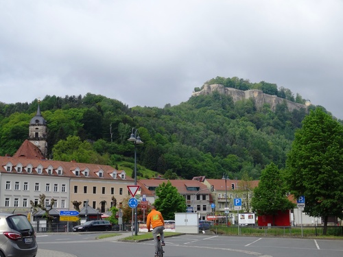
[[[0,155],[14,154],[28,136],[38,102],[0,103]],[[315,108],[315,107],[311,107]],[[40,110],[49,129],[49,156],[54,160],[106,163],[133,162],[132,127],[144,144],[137,146],[137,174],[145,169],[165,178],[257,179],[266,164],[285,166],[287,151],[305,110],[289,112],[285,103],[273,112],[258,111],[252,99],[235,101],[213,93],[191,97],[178,106],[128,108],[102,95],[47,96]]]

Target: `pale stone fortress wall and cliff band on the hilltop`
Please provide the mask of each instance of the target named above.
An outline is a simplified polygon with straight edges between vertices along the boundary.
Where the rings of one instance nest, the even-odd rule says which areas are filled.
[[[270,109],[274,111],[278,104],[286,101],[289,112],[292,112],[293,110],[300,110],[301,108],[307,110],[307,106],[305,106],[305,104],[296,103],[294,101],[276,97],[276,95],[268,95],[263,93],[262,90],[252,89],[244,91],[238,90],[236,88],[225,88],[223,85],[220,84],[205,84],[202,90],[200,90],[199,92],[194,92],[192,96],[209,95],[214,91],[217,91],[224,95],[230,95],[233,98],[234,102],[251,98],[255,101],[255,106],[257,109],[261,108],[264,103],[268,103],[270,105]]]

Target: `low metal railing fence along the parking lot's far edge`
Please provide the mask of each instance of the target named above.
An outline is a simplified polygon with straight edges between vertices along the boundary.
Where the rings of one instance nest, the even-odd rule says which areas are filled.
[[[250,235],[250,236],[292,236],[292,237],[316,237],[325,236],[322,226],[296,227],[258,227],[258,226],[212,226],[211,232],[226,235]],[[327,227],[326,236],[343,236],[343,226]]]

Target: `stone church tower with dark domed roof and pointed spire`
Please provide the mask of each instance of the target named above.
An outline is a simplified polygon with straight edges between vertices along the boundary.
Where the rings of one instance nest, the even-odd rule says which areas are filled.
[[[43,118],[40,113],[40,101],[38,101],[38,108],[36,116],[29,122],[29,142],[36,145],[47,157],[47,121]]]

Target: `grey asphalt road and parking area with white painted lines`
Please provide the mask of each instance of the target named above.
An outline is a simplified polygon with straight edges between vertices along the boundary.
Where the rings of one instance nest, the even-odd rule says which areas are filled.
[[[99,234],[38,234],[39,249],[78,257],[154,256],[152,241],[124,243]],[[128,233],[127,236],[131,234]],[[165,238],[165,257],[342,257],[342,240],[186,234]]]

